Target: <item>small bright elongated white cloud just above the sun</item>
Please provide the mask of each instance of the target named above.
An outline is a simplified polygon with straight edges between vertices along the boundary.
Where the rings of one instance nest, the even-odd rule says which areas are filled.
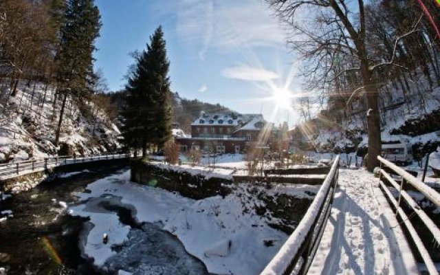
[[[257,82],[279,78],[276,72],[272,72],[263,68],[249,67],[247,65],[225,68],[223,69],[221,74],[223,74],[223,76],[225,76],[226,78]]]

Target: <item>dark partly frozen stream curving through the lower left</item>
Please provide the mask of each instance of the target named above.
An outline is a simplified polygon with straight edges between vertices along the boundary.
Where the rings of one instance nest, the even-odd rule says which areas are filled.
[[[0,222],[0,253],[9,258],[0,262],[0,267],[5,267],[7,274],[124,274],[122,270],[131,274],[208,274],[205,265],[188,254],[173,234],[152,223],[137,223],[129,206],[111,203],[118,197],[98,198],[96,207],[109,216],[117,215],[122,225],[129,226],[128,240],[112,248],[115,255],[100,269],[83,255],[79,243],[93,224],[87,218],[67,214],[66,203],[93,203],[78,202],[75,194],[87,192],[88,184],[124,170],[87,170],[43,182],[29,192],[0,201],[0,212],[12,210],[13,214]]]

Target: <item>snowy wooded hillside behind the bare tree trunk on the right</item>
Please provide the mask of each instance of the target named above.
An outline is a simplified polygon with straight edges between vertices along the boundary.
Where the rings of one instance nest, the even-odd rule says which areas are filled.
[[[440,145],[440,86],[430,87],[421,74],[414,78],[417,81],[408,87],[386,83],[380,88],[381,137],[382,142],[410,142],[419,159]],[[299,124],[294,129],[296,145],[322,153],[366,153],[364,95],[347,105],[349,96],[338,98],[339,104],[331,102],[317,118]]]

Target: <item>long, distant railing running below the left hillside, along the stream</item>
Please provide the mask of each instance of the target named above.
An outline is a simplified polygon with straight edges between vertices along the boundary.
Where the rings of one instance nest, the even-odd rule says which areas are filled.
[[[128,153],[106,153],[100,155],[89,155],[86,157],[76,157],[74,155],[63,155],[56,157],[45,157],[44,159],[29,159],[23,162],[9,162],[0,164],[0,180],[11,179],[19,175],[27,175],[34,172],[82,162],[96,162],[104,159],[120,159],[131,157]]]

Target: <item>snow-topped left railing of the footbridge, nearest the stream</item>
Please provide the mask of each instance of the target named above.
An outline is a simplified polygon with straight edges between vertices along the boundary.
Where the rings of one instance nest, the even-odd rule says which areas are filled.
[[[329,219],[338,184],[339,155],[298,227],[261,275],[307,274]]]

